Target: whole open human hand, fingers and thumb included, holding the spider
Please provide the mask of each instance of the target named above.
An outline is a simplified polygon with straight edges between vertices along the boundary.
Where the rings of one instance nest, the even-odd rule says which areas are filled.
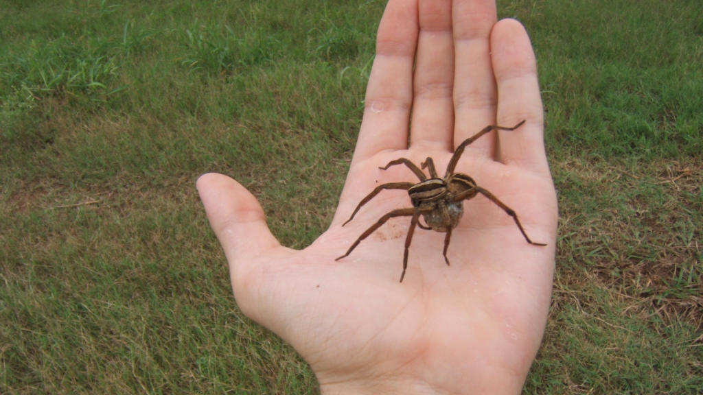
[[[373,188],[418,182],[407,167],[379,167],[432,157],[443,176],[458,143],[522,119],[469,145],[456,171],[514,209],[546,247],[478,195],[453,231],[451,266],[444,233],[418,228],[398,282],[408,217],[335,261],[383,214],[411,207],[406,191],[384,190],[342,227]],[[557,204],[534,53],[519,22],[496,23],[492,0],[389,1],[337,214],[305,250],[281,247],[236,181],[206,174],[198,190],[240,309],[295,347],[323,393],[520,392],[546,323]]]

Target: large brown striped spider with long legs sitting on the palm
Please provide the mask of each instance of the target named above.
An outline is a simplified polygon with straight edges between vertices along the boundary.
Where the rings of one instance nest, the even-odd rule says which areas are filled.
[[[533,242],[529,239],[529,237],[527,237],[527,233],[525,233],[524,229],[522,228],[522,225],[520,225],[520,221],[517,219],[517,214],[515,214],[515,211],[513,211],[510,207],[506,206],[503,202],[498,200],[498,197],[494,196],[488,190],[477,186],[476,182],[470,176],[467,176],[463,173],[454,172],[454,168],[456,167],[457,162],[459,162],[459,157],[461,157],[461,154],[464,152],[464,148],[466,148],[467,145],[473,143],[477,138],[483,136],[491,130],[497,129],[513,131],[522,126],[524,122],[525,121],[523,120],[514,127],[499,127],[491,125],[485,127],[482,131],[479,131],[474,136],[467,138],[465,141],[463,141],[463,143],[459,144],[459,146],[454,151],[454,155],[449,161],[449,166],[447,166],[446,168],[446,174],[444,174],[444,179],[440,179],[439,176],[437,176],[437,171],[434,169],[434,162],[432,161],[431,157],[427,157],[425,162],[420,163],[420,166],[423,169],[427,168],[430,171],[430,179],[427,179],[425,173],[423,173],[422,170],[418,169],[418,167],[415,166],[413,162],[407,160],[404,157],[392,160],[386,165],[386,167],[379,167],[379,169],[387,170],[389,167],[395,166],[396,164],[405,164],[409,169],[413,171],[413,173],[415,173],[416,176],[418,176],[418,179],[420,179],[420,183],[385,183],[376,187],[373,192],[369,193],[368,196],[364,197],[363,200],[359,202],[359,205],[356,206],[356,209],[352,213],[352,216],[347,222],[344,222],[342,226],[349,224],[349,221],[352,221],[352,219],[354,219],[354,216],[357,212],[359,212],[359,209],[361,209],[363,205],[366,205],[366,203],[373,199],[375,195],[378,195],[382,190],[385,189],[407,190],[408,195],[410,195],[410,200],[413,203],[413,207],[408,207],[406,209],[396,209],[382,216],[375,224],[373,224],[370,228],[366,229],[366,232],[362,233],[361,236],[356,239],[354,244],[352,244],[352,247],[349,247],[349,250],[347,250],[346,254],[335,259],[335,261],[339,261],[340,259],[349,256],[349,254],[352,253],[354,248],[359,245],[361,240],[367,238],[368,235],[373,233],[376,229],[380,228],[380,226],[385,224],[386,221],[388,221],[389,219],[392,219],[396,216],[412,216],[413,219],[411,219],[410,222],[410,229],[408,230],[408,235],[405,239],[403,273],[400,276],[400,282],[403,282],[403,278],[405,277],[405,271],[408,268],[408,249],[410,248],[411,240],[413,240],[415,226],[418,226],[421,229],[425,229],[427,231],[446,233],[446,236],[444,238],[443,254],[444,261],[446,261],[446,264],[449,265],[449,259],[446,257],[446,250],[449,247],[449,240],[451,240],[451,231],[453,230],[453,228],[456,228],[456,226],[459,224],[461,216],[463,216],[464,214],[463,201],[475,197],[478,193],[481,193],[485,197],[488,197],[491,202],[496,203],[498,207],[501,207],[501,209],[508,213],[508,215],[512,216],[512,219],[515,220],[515,224],[517,224],[517,228],[520,228],[520,232],[524,236],[525,240],[529,242],[529,244],[545,246],[546,244],[542,244],[540,242]],[[420,215],[422,215],[425,219],[425,223],[427,224],[427,226],[420,224]]]

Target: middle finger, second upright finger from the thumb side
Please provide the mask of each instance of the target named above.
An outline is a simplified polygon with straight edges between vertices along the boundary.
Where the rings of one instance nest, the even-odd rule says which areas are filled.
[[[410,143],[453,150],[454,43],[451,0],[420,0]]]

